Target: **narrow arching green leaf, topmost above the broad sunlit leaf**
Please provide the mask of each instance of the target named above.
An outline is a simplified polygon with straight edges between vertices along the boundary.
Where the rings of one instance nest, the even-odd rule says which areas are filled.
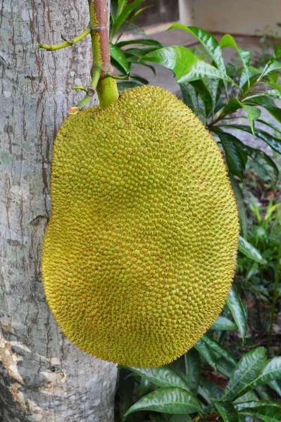
[[[185,26],[181,23],[175,23],[168,28],[168,30],[172,30],[173,28],[178,28],[180,30],[185,30],[189,32],[189,34],[194,35],[201,44],[205,47],[207,53],[213,58],[213,61],[216,63],[218,69],[225,73],[225,63],[223,61],[223,52],[220,48],[220,44],[216,38],[208,31],[203,30],[202,28],[195,27],[195,26]]]

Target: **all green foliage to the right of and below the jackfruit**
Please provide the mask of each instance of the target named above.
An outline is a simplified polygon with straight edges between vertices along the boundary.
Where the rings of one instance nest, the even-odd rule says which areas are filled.
[[[137,51],[139,63],[151,61],[173,71],[183,101],[199,115],[224,151],[243,236],[239,240],[236,285],[241,290],[241,279],[251,279],[254,288],[270,305],[268,350],[256,347],[255,340],[249,338],[247,309],[232,286],[222,314],[183,357],[154,369],[120,367],[119,420],[244,422],[257,418],[280,422],[281,357],[269,359],[280,294],[280,205],[270,200],[263,215],[260,205],[251,198],[249,224],[242,191],[244,174],[249,167],[254,167],[265,181],[270,179],[273,187],[279,170],[271,155],[246,145],[239,134],[246,132],[256,136],[267,143],[275,155],[281,153],[281,110],[275,103],[281,99],[278,84],[281,46],[275,48],[260,69],[251,65],[251,52],[237,46],[230,34],[218,43],[212,34],[199,27],[180,24],[172,27],[193,34],[204,51],[192,51],[184,46],[159,48],[151,44],[150,51]],[[223,51],[226,48],[237,51],[239,69],[231,63],[225,64]],[[261,117],[261,109],[266,110],[276,124]],[[235,119],[239,120],[235,122]],[[241,124],[241,119],[248,122]],[[242,339],[239,350],[238,347],[236,351],[231,350],[233,337],[235,342]]]

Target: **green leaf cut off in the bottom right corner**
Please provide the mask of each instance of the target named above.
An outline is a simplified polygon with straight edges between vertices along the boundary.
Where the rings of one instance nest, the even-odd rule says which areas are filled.
[[[269,402],[268,404],[261,404],[261,402],[256,402],[251,407],[244,407],[243,409],[239,410],[239,414],[252,416],[265,422],[280,422],[281,406],[273,402]]]

